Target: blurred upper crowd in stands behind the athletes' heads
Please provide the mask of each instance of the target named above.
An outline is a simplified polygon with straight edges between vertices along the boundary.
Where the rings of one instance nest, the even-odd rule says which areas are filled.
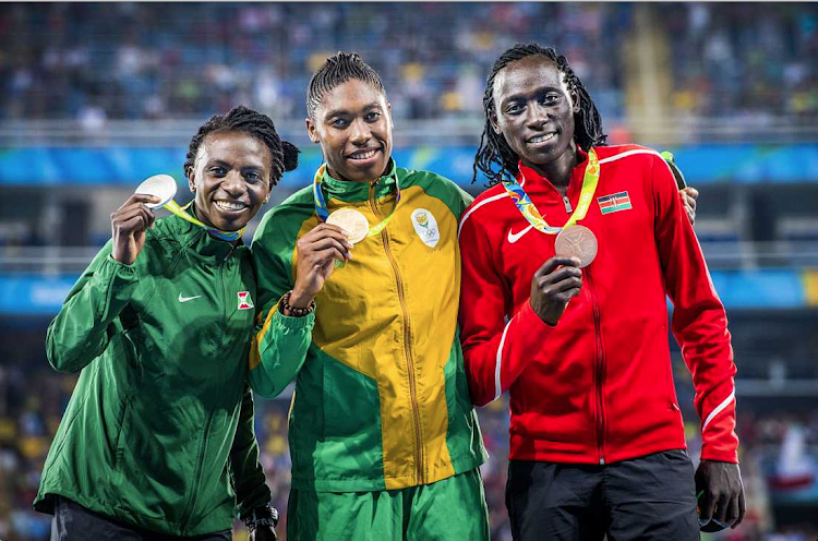
[[[397,119],[482,113],[505,48],[552,45],[603,118],[623,117],[629,3],[49,3],[0,10],[0,120],[196,118],[237,103],[301,119],[339,49],[377,69]],[[679,113],[818,113],[816,4],[672,3],[654,12]],[[663,100],[665,98],[663,97]]]

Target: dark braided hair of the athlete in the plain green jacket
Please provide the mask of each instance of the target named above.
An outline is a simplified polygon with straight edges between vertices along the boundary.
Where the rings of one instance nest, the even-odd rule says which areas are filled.
[[[226,115],[214,115],[199,129],[199,132],[190,141],[188,157],[184,160],[184,175],[187,177],[190,177],[193,172],[202,141],[210,133],[219,132],[248,133],[269,148],[272,157],[270,188],[278,183],[285,171],[291,171],[298,167],[298,155],[301,151],[296,145],[281,141],[276,133],[273,120],[264,113],[240,105],[230,109]]]

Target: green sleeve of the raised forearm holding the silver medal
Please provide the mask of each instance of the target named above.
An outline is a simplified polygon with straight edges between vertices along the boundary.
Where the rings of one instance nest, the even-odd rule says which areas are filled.
[[[139,282],[134,265],[119,263],[108,243],[91,262],[48,326],[48,362],[60,372],[79,372],[108,346],[109,327]]]

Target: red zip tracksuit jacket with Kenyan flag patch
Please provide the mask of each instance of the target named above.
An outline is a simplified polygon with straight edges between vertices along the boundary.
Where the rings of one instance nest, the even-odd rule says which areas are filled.
[[[549,225],[564,225],[577,206],[588,163],[579,152],[585,161],[574,169],[568,201],[520,167],[518,180]],[[464,214],[460,323],[471,398],[483,406],[509,390],[512,459],[605,464],[684,448],[666,294],[693,373],[701,456],[736,462],[726,315],[673,173],[650,148],[600,146],[597,154],[600,180],[579,224],[593,231],[599,252],[582,269],[581,293],[553,327],[529,297],[534,272],[554,255],[555,236],[533,229],[503,185]],[[616,197],[600,202],[608,195]]]

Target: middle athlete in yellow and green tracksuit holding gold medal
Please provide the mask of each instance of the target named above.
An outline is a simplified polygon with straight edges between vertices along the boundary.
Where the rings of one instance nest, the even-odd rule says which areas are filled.
[[[396,167],[383,85],[357,55],[318,69],[308,108],[327,164],[252,245],[266,317],[250,383],[275,396],[297,374],[288,539],[488,540],[485,450],[457,330],[470,197]],[[346,229],[330,225],[338,209],[354,217]],[[287,346],[304,329],[311,341]]]

